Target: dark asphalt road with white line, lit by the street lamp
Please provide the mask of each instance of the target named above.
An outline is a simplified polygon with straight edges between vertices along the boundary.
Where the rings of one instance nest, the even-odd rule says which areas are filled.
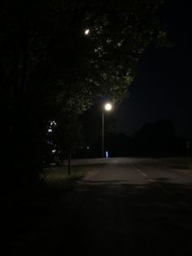
[[[72,161],[93,163],[102,165],[41,217],[26,256],[192,254],[192,170],[155,159]]]

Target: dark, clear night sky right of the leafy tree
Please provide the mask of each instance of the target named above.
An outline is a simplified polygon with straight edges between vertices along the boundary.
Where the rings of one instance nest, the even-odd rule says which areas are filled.
[[[192,137],[190,1],[167,1],[162,10],[172,47],[149,49],[129,88],[129,99],[116,107],[118,132],[131,135],[146,122],[170,119],[177,134]]]

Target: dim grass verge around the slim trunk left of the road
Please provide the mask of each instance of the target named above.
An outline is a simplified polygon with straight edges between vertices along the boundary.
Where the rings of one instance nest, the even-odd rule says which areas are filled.
[[[68,175],[68,166],[51,166],[44,170],[40,177],[40,182],[35,188],[10,188],[5,196],[8,210],[12,205],[23,205],[36,208],[50,205],[52,201],[57,201],[66,192],[72,191],[77,186],[77,182],[83,179],[85,174],[99,165],[72,166],[71,175]]]

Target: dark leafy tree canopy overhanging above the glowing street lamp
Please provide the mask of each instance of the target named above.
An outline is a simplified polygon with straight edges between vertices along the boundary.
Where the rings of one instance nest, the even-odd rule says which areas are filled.
[[[122,100],[142,53],[152,42],[164,40],[156,15],[161,4],[162,0],[8,1],[0,15],[7,73],[11,76],[17,47],[20,67],[27,55],[28,94],[46,94],[62,104],[64,99],[65,107],[70,99],[80,111],[95,96]]]

